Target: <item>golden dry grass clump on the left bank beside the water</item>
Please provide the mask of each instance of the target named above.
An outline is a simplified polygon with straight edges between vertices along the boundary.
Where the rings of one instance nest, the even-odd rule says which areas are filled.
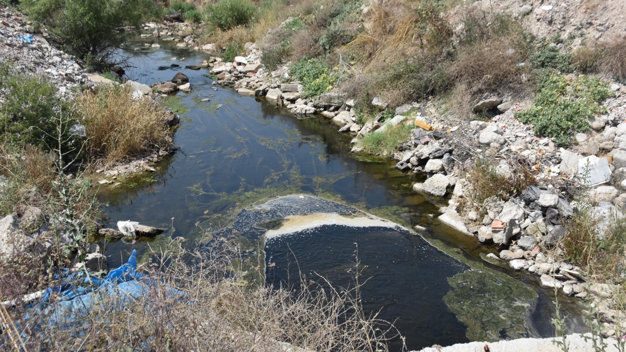
[[[167,147],[172,139],[160,104],[134,100],[130,88],[100,87],[76,98],[87,130],[85,152],[95,163],[121,162]]]

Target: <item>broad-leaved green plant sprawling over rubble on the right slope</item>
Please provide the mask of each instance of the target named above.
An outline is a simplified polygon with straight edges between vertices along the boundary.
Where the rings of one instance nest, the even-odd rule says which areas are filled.
[[[589,118],[605,112],[600,104],[612,95],[607,83],[592,76],[546,75],[535,103],[518,113],[521,122],[532,123],[535,135],[567,143],[574,132],[589,128]]]

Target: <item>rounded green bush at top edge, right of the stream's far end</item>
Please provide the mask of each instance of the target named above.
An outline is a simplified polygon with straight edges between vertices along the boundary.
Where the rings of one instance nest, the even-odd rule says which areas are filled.
[[[205,7],[207,23],[223,31],[237,26],[247,26],[256,14],[257,8],[250,0],[221,0],[217,4]]]

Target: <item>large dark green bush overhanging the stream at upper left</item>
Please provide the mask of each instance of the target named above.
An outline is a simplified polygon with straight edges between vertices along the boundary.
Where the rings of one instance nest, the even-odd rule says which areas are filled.
[[[156,11],[152,0],[23,0],[20,8],[66,49],[96,63],[125,41],[126,26],[139,28]]]

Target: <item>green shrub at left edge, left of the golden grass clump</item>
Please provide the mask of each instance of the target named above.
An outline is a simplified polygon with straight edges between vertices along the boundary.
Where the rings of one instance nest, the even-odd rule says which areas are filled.
[[[0,108],[0,135],[18,145],[34,145],[42,150],[56,147],[54,118],[71,118],[66,101],[56,97],[57,88],[39,76],[13,75],[0,69],[0,90],[6,98]],[[61,131],[63,139],[71,140],[69,127]]]

